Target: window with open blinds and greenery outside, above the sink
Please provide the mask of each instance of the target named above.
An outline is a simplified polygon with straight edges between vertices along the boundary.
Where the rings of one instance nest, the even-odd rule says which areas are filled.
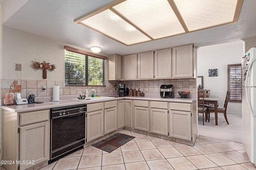
[[[65,84],[105,86],[105,56],[65,46]]]

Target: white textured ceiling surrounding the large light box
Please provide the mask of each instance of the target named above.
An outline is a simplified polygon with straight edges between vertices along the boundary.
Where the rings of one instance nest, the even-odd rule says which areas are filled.
[[[237,23],[131,46],[118,43],[74,22],[109,2],[111,0],[30,0],[3,25],[85,49],[100,46],[101,53],[105,55],[124,55],[188,43],[201,47],[256,36],[256,0],[244,0]]]

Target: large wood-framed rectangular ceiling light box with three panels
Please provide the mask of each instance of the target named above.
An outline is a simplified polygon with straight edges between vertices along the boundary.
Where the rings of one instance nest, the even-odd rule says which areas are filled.
[[[74,22],[134,45],[238,21],[244,0],[114,0]]]

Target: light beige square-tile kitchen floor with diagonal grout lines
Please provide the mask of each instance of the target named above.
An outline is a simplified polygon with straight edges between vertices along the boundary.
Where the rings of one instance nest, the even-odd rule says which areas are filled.
[[[123,130],[135,136],[111,153],[77,150],[40,170],[256,170],[241,143],[200,136],[194,146]]]

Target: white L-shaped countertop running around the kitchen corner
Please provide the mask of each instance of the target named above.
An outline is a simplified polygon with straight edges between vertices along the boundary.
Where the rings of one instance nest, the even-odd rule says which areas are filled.
[[[41,104],[23,104],[23,105],[12,105],[12,106],[1,106],[2,109],[6,109],[12,112],[25,112],[25,111],[35,111],[41,109],[50,109],[53,107],[63,107],[63,106],[72,106],[78,104],[90,104],[96,102],[106,102],[111,100],[122,100],[122,99],[130,99],[130,100],[153,100],[153,101],[160,101],[160,102],[183,102],[183,103],[192,103],[192,101],[196,100],[196,96],[190,94],[191,98],[160,98],[157,94],[145,94],[145,96],[125,96],[125,97],[118,97],[117,93],[114,94],[101,94],[102,96],[116,96],[116,98],[109,98],[109,99],[99,99],[99,100],[71,100],[72,98],[77,98],[79,95],[69,95],[69,96],[60,96],[60,102],[50,102],[50,99],[41,97],[36,98],[36,101],[43,101],[44,103]]]

